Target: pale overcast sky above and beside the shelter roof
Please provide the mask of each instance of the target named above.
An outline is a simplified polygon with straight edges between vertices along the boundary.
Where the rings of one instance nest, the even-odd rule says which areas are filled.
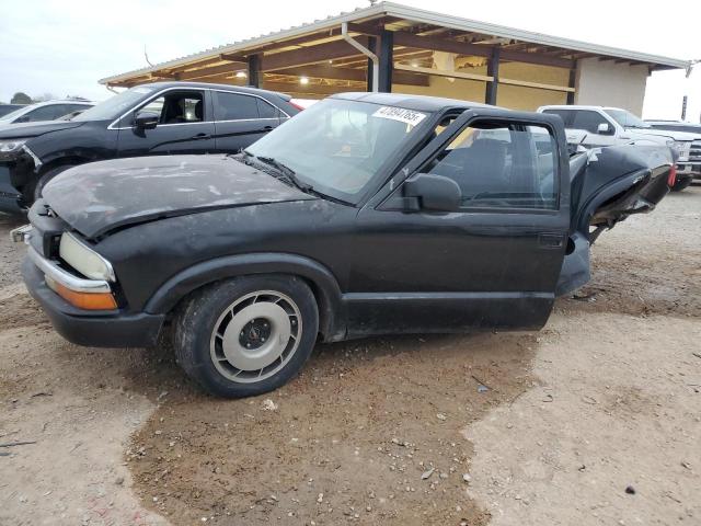
[[[402,0],[417,8],[522,30],[681,59],[701,59],[699,0],[659,2],[589,0]],[[209,0],[23,0],[0,4],[0,102],[16,91],[31,96],[111,96],[97,80],[263,33],[369,5],[367,0],[237,2]],[[701,64],[655,72],[643,116],[687,119],[701,115]]]

